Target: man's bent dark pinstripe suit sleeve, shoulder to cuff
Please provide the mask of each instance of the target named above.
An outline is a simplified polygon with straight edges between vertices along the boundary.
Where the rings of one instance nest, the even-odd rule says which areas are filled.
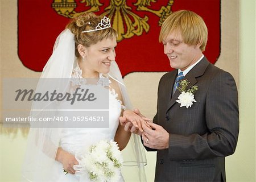
[[[203,135],[170,134],[171,160],[207,159],[234,153],[239,130],[238,94],[236,83],[227,72],[218,73],[209,85],[205,122],[208,132]]]

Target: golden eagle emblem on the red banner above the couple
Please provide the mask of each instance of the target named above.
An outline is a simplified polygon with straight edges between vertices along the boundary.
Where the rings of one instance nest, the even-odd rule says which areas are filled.
[[[160,10],[150,9],[152,3],[158,0],[137,0],[134,6],[137,7],[137,11],[147,11],[156,16],[159,16],[158,24],[162,25],[163,21],[168,15],[172,13],[171,7],[174,0],[169,0],[166,6],[160,7]],[[159,0],[163,1],[163,0]],[[75,0],[54,0],[52,3],[52,8],[62,16],[67,18],[74,18],[82,13],[97,12],[100,11],[102,3],[100,0],[80,0],[80,3],[84,3],[85,6],[90,7],[86,11],[77,13],[75,8],[77,3]],[[104,9],[102,16],[106,15],[112,20],[112,27],[118,32],[117,41],[122,39],[128,39],[134,35],[142,35],[143,31],[148,32],[150,26],[148,24],[148,16],[144,15],[141,17],[132,11],[130,6],[127,6],[126,0],[110,0],[109,6]]]

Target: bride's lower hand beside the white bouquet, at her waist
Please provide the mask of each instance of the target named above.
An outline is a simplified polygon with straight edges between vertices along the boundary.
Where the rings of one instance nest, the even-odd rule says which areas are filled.
[[[72,175],[75,174],[76,171],[73,169],[73,166],[79,164],[75,155],[69,154],[69,152],[64,151],[62,148],[58,148],[56,160],[62,163],[66,172],[71,173]]]

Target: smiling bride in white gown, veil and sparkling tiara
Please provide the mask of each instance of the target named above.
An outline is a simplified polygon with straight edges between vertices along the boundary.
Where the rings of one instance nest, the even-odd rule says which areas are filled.
[[[136,181],[146,181],[143,168],[146,159],[140,138],[119,125],[120,115],[125,108],[129,113],[131,104],[115,63],[116,38],[117,32],[110,26],[109,18],[101,19],[89,13],[72,19],[56,39],[41,78],[109,78],[109,86],[105,86],[109,89],[109,127],[31,128],[22,170],[23,181],[89,181],[77,175],[74,167],[79,165],[78,158],[84,148],[102,139],[113,139],[121,151],[130,139],[123,166],[133,166],[126,169],[134,176],[137,174]],[[143,121],[133,111],[130,115],[134,122]],[[123,180],[120,175],[118,181]]]

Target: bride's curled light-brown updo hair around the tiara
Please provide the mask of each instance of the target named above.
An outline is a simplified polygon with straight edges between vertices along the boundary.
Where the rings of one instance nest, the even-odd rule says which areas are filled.
[[[75,35],[75,55],[79,57],[80,54],[77,51],[77,46],[82,44],[85,47],[90,47],[103,39],[117,38],[117,32],[112,28],[106,28],[98,31],[82,32],[88,30],[95,30],[98,23],[101,22],[102,17],[93,13],[85,13],[73,18],[71,22],[67,24],[67,27]]]

